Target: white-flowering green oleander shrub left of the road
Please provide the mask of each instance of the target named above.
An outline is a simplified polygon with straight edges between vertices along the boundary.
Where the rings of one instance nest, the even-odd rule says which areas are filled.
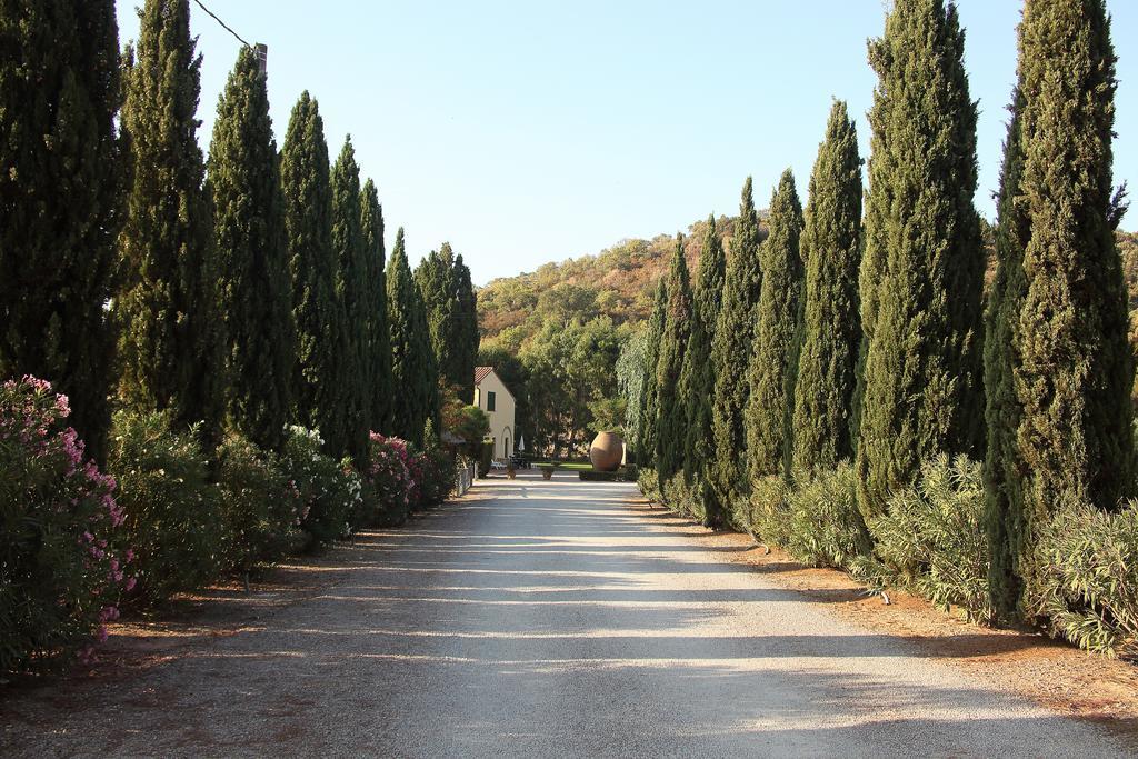
[[[351,459],[337,463],[321,453],[323,445],[320,432],[290,427],[281,454],[281,468],[300,494],[300,529],[307,550],[347,537],[352,517],[363,504],[363,480]]]

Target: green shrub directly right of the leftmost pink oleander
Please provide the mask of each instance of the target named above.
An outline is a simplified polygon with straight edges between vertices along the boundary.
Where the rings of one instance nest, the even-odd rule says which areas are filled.
[[[229,539],[206,457],[192,430],[174,432],[170,423],[167,414],[119,411],[112,428],[107,464],[134,548],[131,600],[139,605],[206,585],[224,570]]]

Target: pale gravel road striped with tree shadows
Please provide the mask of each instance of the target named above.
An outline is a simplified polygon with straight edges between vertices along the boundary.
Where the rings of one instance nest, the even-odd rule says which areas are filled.
[[[258,625],[0,708],[0,753],[1124,754],[653,523],[634,493],[483,482],[340,550]]]

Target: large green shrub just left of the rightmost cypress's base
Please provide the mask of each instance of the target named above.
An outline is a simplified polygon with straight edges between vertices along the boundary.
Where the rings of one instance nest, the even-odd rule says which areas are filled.
[[[872,587],[901,587],[943,609],[962,607],[974,621],[990,621],[983,519],[979,463],[943,455],[925,462],[917,482],[894,493],[887,512],[869,520],[876,545],[853,575]]]

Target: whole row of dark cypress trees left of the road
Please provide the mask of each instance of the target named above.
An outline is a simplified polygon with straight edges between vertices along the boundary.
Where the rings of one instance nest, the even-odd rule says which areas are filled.
[[[472,382],[461,256],[427,303],[402,229],[385,262],[376,185],[351,138],[330,162],[307,92],[278,154],[251,49],[206,160],[189,2],[140,17],[121,57],[113,0],[0,9],[0,376],[52,380],[97,459],[116,391],[197,424],[208,449],[228,429],[279,449],[292,422],[336,457],[362,460],[369,430],[421,444],[439,423],[436,331],[464,352],[445,354],[448,380]]]

